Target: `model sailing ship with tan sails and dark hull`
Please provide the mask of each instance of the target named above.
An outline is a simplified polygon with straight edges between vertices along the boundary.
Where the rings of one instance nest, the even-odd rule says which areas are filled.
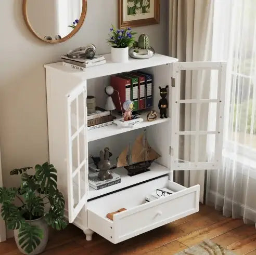
[[[131,145],[121,152],[117,160],[117,167],[124,167],[128,170],[129,176],[138,175],[139,173],[149,171],[153,160],[160,155],[148,144],[146,130],[139,135],[131,149]]]

